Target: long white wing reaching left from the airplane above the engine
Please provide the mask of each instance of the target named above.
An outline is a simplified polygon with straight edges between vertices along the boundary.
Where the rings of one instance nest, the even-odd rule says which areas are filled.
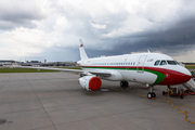
[[[65,69],[65,68],[54,68],[54,67],[32,67],[32,66],[17,66],[20,68],[35,68],[35,69],[48,69],[48,70],[61,70],[66,73],[74,73],[74,74],[82,74],[82,73],[90,73],[92,75],[98,75],[102,77],[109,77],[112,74],[109,72],[102,72],[102,70],[80,70],[80,69]]]

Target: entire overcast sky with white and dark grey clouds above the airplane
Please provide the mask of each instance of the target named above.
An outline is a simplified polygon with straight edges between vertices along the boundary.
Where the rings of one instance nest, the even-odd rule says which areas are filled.
[[[194,0],[0,0],[0,60],[165,53],[195,62]]]

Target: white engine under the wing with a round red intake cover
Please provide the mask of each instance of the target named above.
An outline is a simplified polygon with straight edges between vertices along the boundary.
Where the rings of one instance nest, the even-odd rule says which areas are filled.
[[[102,86],[102,80],[92,75],[92,76],[83,76],[79,78],[79,83],[82,88],[91,91],[99,90]]]

